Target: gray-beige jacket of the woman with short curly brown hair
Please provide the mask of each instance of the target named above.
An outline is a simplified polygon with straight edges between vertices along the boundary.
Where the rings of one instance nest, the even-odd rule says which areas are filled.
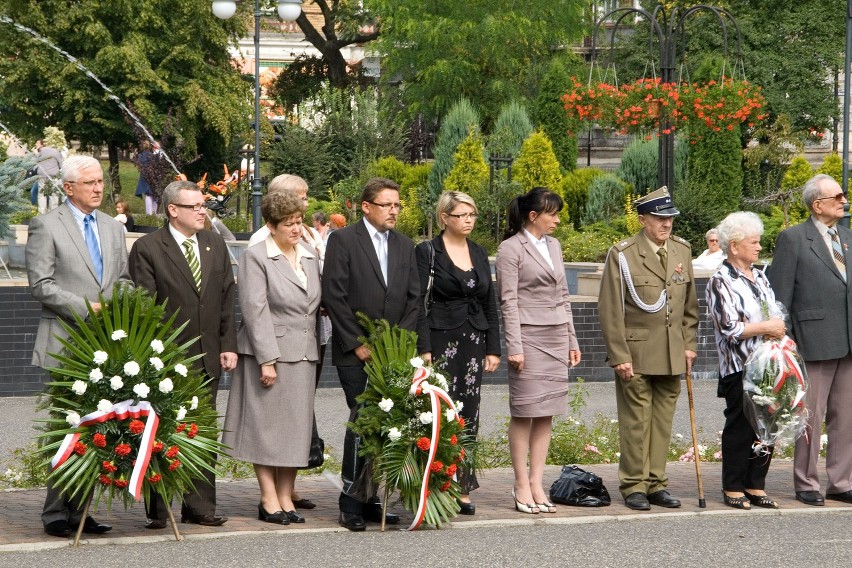
[[[302,269],[307,289],[283,255],[267,255],[265,242],[246,249],[238,278],[243,314],[238,353],[254,355],[259,363],[318,360],[319,259],[303,257]]]

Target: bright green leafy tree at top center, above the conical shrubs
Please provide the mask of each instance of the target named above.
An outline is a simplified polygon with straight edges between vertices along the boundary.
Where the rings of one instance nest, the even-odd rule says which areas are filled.
[[[382,26],[376,47],[383,77],[402,78],[412,115],[440,117],[461,96],[475,101],[491,124],[506,101],[522,99],[538,82],[539,65],[554,46],[579,39],[587,2],[528,0],[497,9],[492,0],[369,5]]]

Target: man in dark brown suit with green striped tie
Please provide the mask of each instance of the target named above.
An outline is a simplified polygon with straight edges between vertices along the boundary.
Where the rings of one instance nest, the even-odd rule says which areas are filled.
[[[228,249],[220,235],[204,229],[204,195],[194,183],[170,183],[162,201],[168,224],[136,241],[130,251],[130,274],[137,286],[167,302],[164,317],[180,310],[176,323],[188,325],[179,342],[200,337],[189,355],[204,353],[195,364],[211,379],[207,385],[215,404],[221,371],[237,364],[234,274]],[[206,484],[197,484],[184,496],[182,521],[219,526],[228,519],[216,516],[215,476],[211,472],[205,476]],[[146,528],[165,528],[159,496],[148,503],[148,518]]]

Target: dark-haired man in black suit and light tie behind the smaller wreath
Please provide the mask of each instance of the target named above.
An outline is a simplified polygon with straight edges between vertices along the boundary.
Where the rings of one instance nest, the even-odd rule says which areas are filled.
[[[370,359],[370,349],[358,340],[364,330],[356,314],[383,318],[412,331],[417,327],[420,280],[414,243],[393,230],[401,209],[399,186],[388,179],[371,179],[361,194],[363,220],[333,232],[328,239],[322,297],[333,327],[332,363],[337,366],[350,421],[358,417],[355,397],[367,386],[364,362]],[[370,468],[358,456],[357,436],[348,428],[341,477],[341,526],[362,531],[365,519],[381,521]],[[398,523],[399,518],[388,515],[387,521]]]

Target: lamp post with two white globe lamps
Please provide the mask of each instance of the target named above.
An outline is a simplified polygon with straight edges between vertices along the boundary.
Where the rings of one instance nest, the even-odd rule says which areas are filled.
[[[302,13],[302,0],[276,0],[278,15],[285,22],[295,21]],[[214,0],[213,14],[227,20],[237,11],[234,0]],[[254,0],[254,179],[251,182],[252,231],[260,229],[260,201],[263,197],[263,184],[260,181],[260,0]]]

